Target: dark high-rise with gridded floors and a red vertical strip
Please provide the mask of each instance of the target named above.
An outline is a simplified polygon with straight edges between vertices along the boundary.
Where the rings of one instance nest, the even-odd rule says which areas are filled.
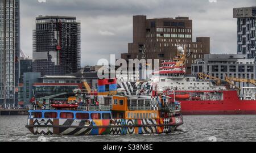
[[[33,32],[33,72],[76,73],[80,67],[80,23],[75,17],[39,16]]]

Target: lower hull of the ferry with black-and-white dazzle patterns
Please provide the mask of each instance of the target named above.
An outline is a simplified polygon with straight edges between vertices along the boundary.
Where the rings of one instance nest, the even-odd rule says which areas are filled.
[[[183,124],[182,116],[138,120],[28,119],[26,128],[40,135],[121,135],[171,133]]]

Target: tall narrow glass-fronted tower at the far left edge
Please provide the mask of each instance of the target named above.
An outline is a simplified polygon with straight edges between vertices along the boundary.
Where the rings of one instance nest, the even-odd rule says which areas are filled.
[[[19,0],[0,1],[0,106],[18,104],[20,54]]]

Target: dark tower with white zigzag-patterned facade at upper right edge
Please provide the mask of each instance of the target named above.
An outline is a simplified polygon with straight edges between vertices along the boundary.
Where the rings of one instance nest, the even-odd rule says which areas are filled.
[[[256,6],[233,8],[233,18],[237,18],[237,53],[255,58]]]

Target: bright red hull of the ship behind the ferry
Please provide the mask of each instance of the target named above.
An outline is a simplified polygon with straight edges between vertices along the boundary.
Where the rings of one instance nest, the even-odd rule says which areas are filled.
[[[256,100],[240,100],[237,91],[222,91],[223,100],[179,100],[182,113],[192,114],[256,114]]]

